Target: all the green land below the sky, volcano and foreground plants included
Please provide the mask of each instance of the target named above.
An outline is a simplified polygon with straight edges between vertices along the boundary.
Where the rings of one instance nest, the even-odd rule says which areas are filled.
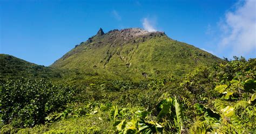
[[[113,30],[51,67],[0,55],[1,133],[254,133],[256,59]],[[45,79],[46,78],[46,79]]]

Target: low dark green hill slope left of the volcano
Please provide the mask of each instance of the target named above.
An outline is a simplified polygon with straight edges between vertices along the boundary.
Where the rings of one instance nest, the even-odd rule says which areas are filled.
[[[6,77],[61,77],[59,70],[32,64],[8,54],[0,54],[0,79]]]

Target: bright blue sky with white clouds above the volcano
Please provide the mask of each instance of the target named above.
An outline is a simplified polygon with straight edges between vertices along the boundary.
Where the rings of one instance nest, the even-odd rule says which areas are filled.
[[[0,0],[0,53],[49,66],[100,27],[141,27],[220,58],[256,58],[255,6],[254,0]]]

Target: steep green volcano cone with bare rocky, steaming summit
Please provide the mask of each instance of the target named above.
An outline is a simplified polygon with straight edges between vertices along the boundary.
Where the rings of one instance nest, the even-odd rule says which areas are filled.
[[[164,32],[143,29],[102,29],[76,45],[51,65],[76,69],[99,77],[141,80],[165,75],[181,76],[199,65],[221,59],[192,45],[172,40]]]

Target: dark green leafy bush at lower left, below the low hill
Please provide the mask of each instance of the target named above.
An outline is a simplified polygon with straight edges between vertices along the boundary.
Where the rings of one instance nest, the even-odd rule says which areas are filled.
[[[61,111],[75,100],[76,88],[54,85],[44,79],[1,81],[1,114],[4,124],[15,127],[44,123],[45,117]]]

